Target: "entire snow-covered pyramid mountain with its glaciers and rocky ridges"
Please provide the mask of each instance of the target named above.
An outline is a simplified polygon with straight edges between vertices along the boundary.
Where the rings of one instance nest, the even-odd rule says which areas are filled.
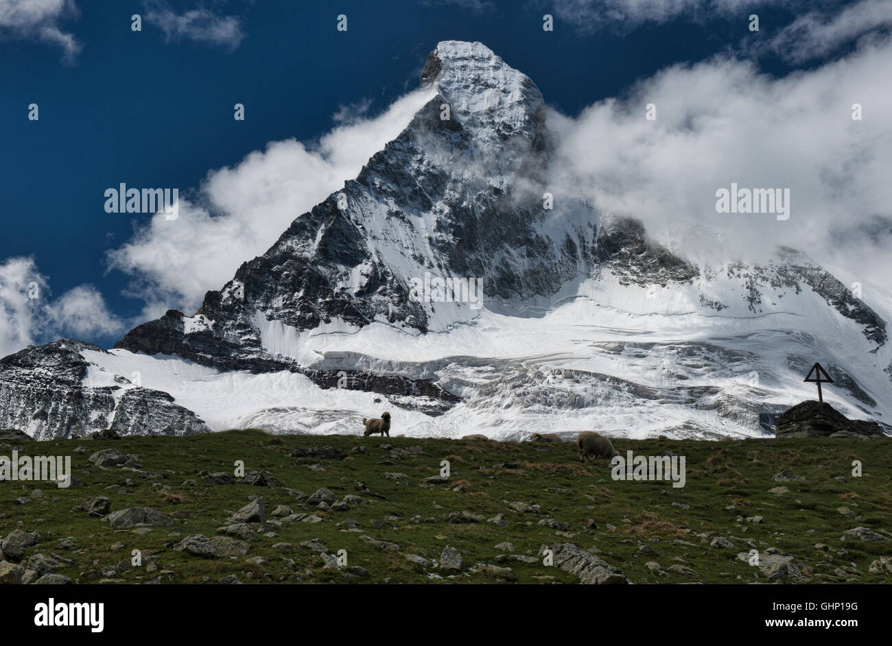
[[[401,133],[195,315],[0,360],[0,425],[351,433],[391,410],[410,436],[759,435],[814,396],[816,360],[840,412],[892,421],[887,323],[849,285],[792,249],[681,258],[550,188],[541,93],[480,43],[437,45],[421,85]]]

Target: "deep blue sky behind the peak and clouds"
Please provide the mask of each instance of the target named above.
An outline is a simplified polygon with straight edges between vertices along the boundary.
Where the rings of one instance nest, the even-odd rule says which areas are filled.
[[[169,5],[182,12],[196,3]],[[645,23],[627,33],[556,18],[555,32],[546,33],[541,16],[549,7],[538,2],[495,2],[482,12],[433,0],[205,5],[241,18],[245,37],[234,50],[166,42],[151,24],[134,33],[130,15],[145,13],[144,5],[111,0],[78,2],[79,14],[62,21],[83,44],[70,64],[53,45],[0,40],[0,263],[33,256],[54,294],[92,283],[116,314],[136,315],[143,302],[122,295],[128,276],[107,273],[104,255],[150,216],[105,213],[108,187],[195,187],[211,168],[269,141],[324,134],[343,104],[372,99],[370,112],[383,110],[417,86],[440,40],[482,41],[533,78],[551,105],[575,115],[636,78],[735,45],[748,13]],[[335,29],[338,13],[348,16],[345,33]],[[759,13],[764,37],[792,19]],[[787,71],[773,62],[767,70]],[[39,105],[37,122],[27,119],[31,102]],[[233,119],[235,102],[245,105],[244,121]],[[116,339],[85,340],[107,347]]]

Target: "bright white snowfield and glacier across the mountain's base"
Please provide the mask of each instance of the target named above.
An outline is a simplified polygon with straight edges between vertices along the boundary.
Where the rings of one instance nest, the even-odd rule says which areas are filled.
[[[795,298],[779,290],[769,311],[755,315],[736,289],[729,280],[648,290],[602,276],[534,314],[484,306],[471,323],[427,334],[385,323],[299,332],[257,316],[264,347],[301,366],[430,379],[462,398],[437,416],[401,407],[412,404],[401,397],[319,388],[297,372],[219,372],[127,350],[83,354],[95,364],[94,383],[137,372],[145,388],[168,392],[214,430],[359,434],[363,417],[390,410],[393,434],[410,437],[507,439],[542,429],[567,437],[583,429],[620,437],[762,436],[771,433],[760,414],[815,397],[814,384],[803,382],[815,360],[846,366],[863,391],[855,397],[826,386],[825,399],[841,413],[892,419],[886,346],[871,354],[858,328],[810,290]],[[703,291],[728,307],[702,306]]]

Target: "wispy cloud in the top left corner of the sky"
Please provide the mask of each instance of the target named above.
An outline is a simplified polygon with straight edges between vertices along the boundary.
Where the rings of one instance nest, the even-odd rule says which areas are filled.
[[[60,27],[77,14],[74,0],[0,0],[0,37],[37,39],[62,47],[64,61],[73,61],[82,45]]]

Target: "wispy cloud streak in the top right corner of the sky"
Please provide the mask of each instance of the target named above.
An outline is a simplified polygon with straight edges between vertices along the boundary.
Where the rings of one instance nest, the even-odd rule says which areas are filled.
[[[861,0],[838,14],[812,11],[801,15],[772,37],[767,47],[799,63],[827,56],[858,38],[881,39],[888,36],[889,29],[892,29],[892,2]]]

